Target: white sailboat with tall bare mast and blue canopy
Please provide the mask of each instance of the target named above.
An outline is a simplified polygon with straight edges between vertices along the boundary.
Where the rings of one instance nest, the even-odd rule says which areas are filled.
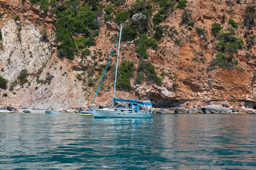
[[[117,69],[118,69],[119,49],[121,44],[121,35],[122,35],[122,24],[121,24],[120,33],[119,33],[119,44],[118,44],[118,53],[117,53],[117,64],[115,67],[115,82],[114,82],[112,107],[103,108],[103,109],[91,108],[92,114],[94,118],[151,118],[151,114],[154,111],[153,109],[148,109],[148,108],[152,106],[152,103],[142,102],[138,100],[115,98],[115,84],[117,83]],[[118,40],[118,37],[117,37],[117,40]],[[117,44],[117,40],[115,41],[115,44]],[[114,48],[115,48],[115,45],[114,45]],[[112,54],[113,54],[113,50],[112,50]],[[112,54],[110,55],[110,58]],[[109,61],[110,61],[110,58],[109,58]],[[106,66],[106,69],[108,67],[108,64]],[[104,71],[104,74],[106,72],[106,69]],[[104,78],[104,74],[102,75],[101,82],[102,82],[102,79]],[[100,84],[98,86],[98,89],[100,88]],[[96,91],[96,95],[97,95],[98,89]],[[94,99],[96,95],[94,96]],[[119,104],[114,106],[115,102],[119,102]],[[92,105],[93,105],[93,102],[92,102]]]

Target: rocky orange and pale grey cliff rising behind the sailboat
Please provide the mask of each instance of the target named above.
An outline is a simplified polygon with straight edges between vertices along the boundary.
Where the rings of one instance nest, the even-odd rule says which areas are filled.
[[[127,11],[136,3],[118,2],[118,6],[108,1],[101,2],[104,7],[114,6],[115,12],[108,15],[106,8],[102,7],[102,12],[97,14],[99,32],[95,36],[96,44],[88,46],[90,54],[82,57],[82,50],[78,47],[75,57],[68,59],[60,57],[60,43],[64,40],[56,41],[55,31],[56,21],[60,22],[55,8],[64,2],[56,2],[46,12],[40,8],[43,2],[33,5],[29,1],[0,0],[0,75],[8,80],[0,92],[0,105],[48,109],[86,107],[90,104],[119,31],[119,23],[115,22],[118,12]],[[150,3],[151,14],[147,16],[138,12],[141,15],[126,18],[123,24],[134,24],[133,19],[146,19],[143,15],[147,16],[148,29],[144,33],[155,39],[157,48],[147,48],[148,57],[143,58],[137,50],[141,32],[133,41],[122,42],[121,62],[134,61],[134,67],[129,76],[130,90],[118,91],[117,97],[151,101],[158,108],[224,100],[240,106],[243,101],[243,105],[256,107],[255,15],[251,16],[252,24],[245,23],[246,9],[253,6],[254,1],[188,0],[183,7],[175,1],[175,7],[166,13],[161,13],[161,4]],[[158,13],[162,17],[159,22],[156,20]],[[107,20],[106,16],[114,19]],[[230,18],[237,27],[233,27]],[[222,27],[216,36],[213,33],[214,23]],[[241,39],[243,46],[239,48],[238,45],[237,52],[234,49],[230,53],[231,48],[226,49],[229,52],[221,51],[216,47],[225,41],[220,37],[221,32],[233,32],[231,37],[237,41]],[[71,38],[76,39],[79,46],[77,40],[82,40],[82,36],[85,34],[73,33]],[[220,52],[232,56],[225,60],[228,66],[217,63]],[[115,56],[110,66],[112,69]],[[142,61],[152,63],[161,86],[146,80],[140,84],[136,82]],[[234,65],[230,66],[231,63]],[[143,72],[145,77],[146,74],[149,73]],[[112,100],[113,71],[108,71],[104,81],[95,103],[107,105]]]

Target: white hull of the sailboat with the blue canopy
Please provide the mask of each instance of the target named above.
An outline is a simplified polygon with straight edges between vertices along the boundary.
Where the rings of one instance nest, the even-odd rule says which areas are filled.
[[[147,111],[135,111],[131,109],[92,109],[94,118],[151,118]]]

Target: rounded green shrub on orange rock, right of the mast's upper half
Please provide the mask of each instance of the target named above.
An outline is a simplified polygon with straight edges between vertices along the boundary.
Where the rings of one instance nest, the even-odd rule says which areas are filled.
[[[157,48],[155,40],[152,38],[148,39],[146,34],[143,34],[138,40],[136,40],[135,45],[137,46],[136,52],[143,58],[148,58],[147,49],[149,47],[153,49]]]

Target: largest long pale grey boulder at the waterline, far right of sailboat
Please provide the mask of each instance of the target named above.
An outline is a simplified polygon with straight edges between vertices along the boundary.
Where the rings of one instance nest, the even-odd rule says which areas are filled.
[[[212,104],[207,106],[201,106],[204,113],[232,113],[232,109],[222,107],[220,104]]]

